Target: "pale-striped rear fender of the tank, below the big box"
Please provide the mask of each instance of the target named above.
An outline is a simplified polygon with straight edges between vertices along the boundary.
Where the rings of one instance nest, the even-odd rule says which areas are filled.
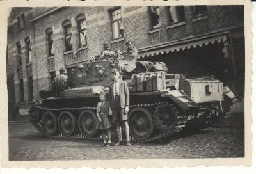
[[[161,97],[169,97],[175,104],[177,104],[181,109],[188,110],[195,107],[200,107],[196,105],[193,100],[191,100],[188,95],[185,95],[180,90],[170,90],[166,91],[161,95]]]

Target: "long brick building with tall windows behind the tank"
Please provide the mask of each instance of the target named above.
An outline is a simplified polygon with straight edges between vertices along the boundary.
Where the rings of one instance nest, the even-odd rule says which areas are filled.
[[[28,107],[61,67],[99,54],[103,43],[170,73],[215,75],[244,95],[243,6],[12,8],[8,22],[8,100]]]

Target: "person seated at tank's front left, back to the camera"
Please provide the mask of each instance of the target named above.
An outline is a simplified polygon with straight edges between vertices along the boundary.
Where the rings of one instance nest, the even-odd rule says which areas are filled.
[[[67,90],[68,76],[65,75],[65,69],[60,68],[60,75],[55,77],[52,82],[52,91],[60,95],[61,91]]]

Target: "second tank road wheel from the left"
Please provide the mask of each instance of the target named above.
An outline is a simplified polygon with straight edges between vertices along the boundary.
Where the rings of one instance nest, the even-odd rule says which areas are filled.
[[[58,118],[58,129],[64,136],[72,136],[76,130],[77,119],[70,111],[62,111]]]

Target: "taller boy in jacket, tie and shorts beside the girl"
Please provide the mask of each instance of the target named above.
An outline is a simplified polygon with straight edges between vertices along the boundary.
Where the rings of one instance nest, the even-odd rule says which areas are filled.
[[[112,70],[113,83],[109,85],[109,115],[113,115],[112,120],[116,125],[118,135],[118,143],[114,146],[122,145],[122,130],[121,124],[125,131],[125,146],[131,146],[129,136],[129,125],[127,115],[129,112],[129,90],[127,83],[120,79],[120,72],[117,69]]]

